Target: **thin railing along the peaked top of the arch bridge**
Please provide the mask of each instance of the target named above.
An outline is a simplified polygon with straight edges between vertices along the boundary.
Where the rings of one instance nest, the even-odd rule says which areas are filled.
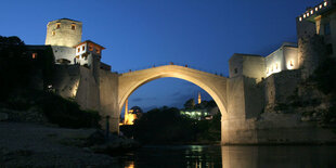
[[[142,67],[138,67],[138,68],[131,68],[131,69],[127,69],[127,70],[114,69],[113,72],[116,72],[118,74],[124,74],[124,73],[143,70],[143,69],[147,69],[147,68],[152,68],[152,67],[158,67],[158,66],[165,66],[165,65],[179,65],[179,66],[184,66],[184,67],[193,68],[196,70],[201,70],[201,72],[205,72],[205,73],[209,73],[209,74],[214,74],[214,75],[218,75],[218,76],[224,76],[224,74],[222,72],[209,70],[209,69],[201,68],[201,67],[193,66],[190,64],[183,64],[183,63],[177,63],[177,62],[165,62],[165,63],[159,63],[159,64],[152,64],[152,65],[142,66]]]

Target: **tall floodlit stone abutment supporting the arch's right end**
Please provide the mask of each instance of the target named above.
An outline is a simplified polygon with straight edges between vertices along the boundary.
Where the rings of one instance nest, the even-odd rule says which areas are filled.
[[[246,77],[235,77],[229,79],[228,85],[228,115],[222,116],[222,144],[238,144],[238,143],[256,143],[257,133],[255,130],[255,119],[247,119],[246,112],[250,107],[250,99],[246,100],[246,85],[251,82]],[[248,102],[246,104],[246,101]],[[251,113],[253,114],[253,113]]]

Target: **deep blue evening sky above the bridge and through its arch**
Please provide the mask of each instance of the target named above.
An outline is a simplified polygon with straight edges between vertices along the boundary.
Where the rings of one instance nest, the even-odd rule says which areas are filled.
[[[296,42],[296,16],[322,0],[96,0],[1,2],[0,35],[43,44],[47,23],[83,23],[82,40],[106,48],[102,61],[114,72],[180,63],[228,76],[233,53],[268,55]],[[202,89],[173,78],[139,88],[129,106],[183,106]],[[211,98],[202,91],[204,99]]]

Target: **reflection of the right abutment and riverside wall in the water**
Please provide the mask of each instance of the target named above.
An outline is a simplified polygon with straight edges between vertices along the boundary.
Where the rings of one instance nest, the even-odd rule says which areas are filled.
[[[335,167],[336,146],[222,146],[223,168]]]

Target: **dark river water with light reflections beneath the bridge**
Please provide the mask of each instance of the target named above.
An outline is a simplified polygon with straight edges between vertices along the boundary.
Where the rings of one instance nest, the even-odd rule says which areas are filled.
[[[153,145],[116,157],[120,167],[334,168],[336,145]]]

